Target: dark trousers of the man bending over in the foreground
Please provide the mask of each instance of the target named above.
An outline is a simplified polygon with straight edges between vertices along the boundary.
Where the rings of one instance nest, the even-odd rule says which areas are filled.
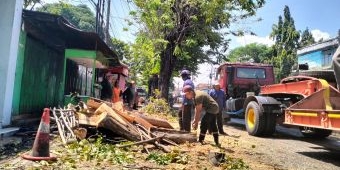
[[[205,113],[205,115],[203,116],[203,118],[201,120],[200,128],[201,128],[201,132],[200,132],[200,136],[198,138],[199,142],[204,141],[205,134],[207,133],[208,128],[210,128],[210,130],[213,134],[213,137],[214,137],[215,144],[216,145],[219,144],[217,125],[216,125],[216,114]]]

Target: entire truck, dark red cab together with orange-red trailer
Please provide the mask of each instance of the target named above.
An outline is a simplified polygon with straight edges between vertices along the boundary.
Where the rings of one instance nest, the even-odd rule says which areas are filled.
[[[228,110],[244,113],[248,134],[272,135],[277,124],[297,127],[304,136],[314,138],[325,138],[340,130],[340,92],[335,87],[324,79],[303,75],[271,84],[274,80],[267,79],[274,77],[270,68],[240,63],[227,63],[219,68],[221,86],[231,97],[227,101]],[[252,69],[256,75],[249,71],[244,78],[240,76],[242,69]]]

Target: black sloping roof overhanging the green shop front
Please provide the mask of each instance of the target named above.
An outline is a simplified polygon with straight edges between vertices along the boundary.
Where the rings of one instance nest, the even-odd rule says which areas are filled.
[[[28,36],[56,50],[74,48],[100,51],[109,59],[110,66],[126,67],[97,33],[82,31],[60,15],[23,10],[22,18]]]

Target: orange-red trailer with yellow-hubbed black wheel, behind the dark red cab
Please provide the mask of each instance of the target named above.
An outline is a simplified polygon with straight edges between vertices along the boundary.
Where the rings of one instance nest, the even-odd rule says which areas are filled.
[[[340,92],[326,80],[287,77],[261,87],[258,96],[244,102],[250,135],[272,135],[276,124],[298,127],[306,137],[324,138],[340,130]]]

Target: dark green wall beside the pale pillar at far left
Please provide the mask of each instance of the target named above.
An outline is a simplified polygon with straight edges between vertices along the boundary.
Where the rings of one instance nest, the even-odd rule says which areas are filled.
[[[63,106],[64,51],[21,35],[12,116]]]

